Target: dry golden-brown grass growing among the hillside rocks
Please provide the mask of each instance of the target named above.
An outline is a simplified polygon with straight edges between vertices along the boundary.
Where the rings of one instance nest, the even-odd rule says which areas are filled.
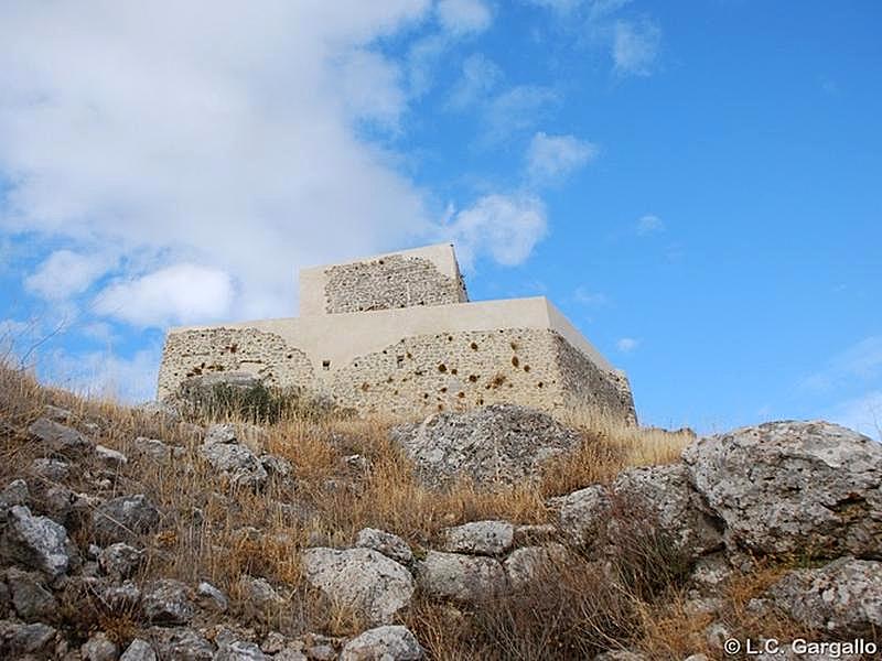
[[[420,484],[389,440],[390,421],[295,414],[266,429],[267,449],[291,462],[293,481],[272,478],[255,494],[232,487],[201,462],[198,437],[185,425],[165,425],[112,401],[46,389],[25,373],[0,368],[0,423],[9,425],[6,432],[0,426],[0,436],[6,436],[0,485],[24,477],[37,507],[46,490],[60,485],[41,481],[31,472],[31,463],[45,449],[30,441],[25,430],[49,403],[71,410],[71,424],[83,431],[95,425],[87,433],[96,443],[130,457],[117,470],[108,470],[95,457],[84,458],[64,480],[65,488],[101,498],[146,494],[162,511],[159,530],[139,540],[148,561],[138,581],[207,581],[229,595],[232,617],[244,618],[258,631],[291,635],[351,635],[363,627],[353,613],[305,585],[298,559],[306,545],[351,545],[362,528],[375,527],[401,535],[419,551],[431,545],[442,528],[471,520],[546,522],[548,496],[610,481],[627,466],[669,463],[688,442],[686,435],[569,412],[564,421],[581,431],[584,442],[549,466],[537,483],[487,491],[463,481],[437,492]],[[138,458],[132,445],[137,436],[181,446],[184,456],[168,465]],[[355,454],[367,459],[368,468],[343,460]],[[89,543],[86,530],[74,533],[84,550]],[[670,560],[649,548],[634,548],[646,553],[627,559],[632,565]],[[473,610],[418,598],[404,618],[433,659],[451,660],[583,658],[637,640],[639,631],[658,639],[685,635],[674,625],[677,613],[647,618],[645,590],[609,579],[596,565],[577,559],[556,572],[521,593]],[[267,578],[288,597],[286,608],[255,613],[243,590],[243,576]],[[674,581],[664,581],[668,579]],[[653,589],[664,592],[666,586]],[[66,622],[80,636],[96,628],[119,640],[137,633],[130,614],[109,614],[94,595],[71,595],[68,605]]]

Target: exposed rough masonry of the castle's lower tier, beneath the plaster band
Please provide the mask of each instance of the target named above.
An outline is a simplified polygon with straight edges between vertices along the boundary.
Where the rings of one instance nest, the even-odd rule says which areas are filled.
[[[546,411],[588,403],[634,420],[630,391],[549,329],[406,337],[333,370],[314,367],[273,333],[185,330],[168,338],[160,399],[189,376],[217,371],[249,371],[268,384],[305,387],[343,408],[397,418],[507,402]]]

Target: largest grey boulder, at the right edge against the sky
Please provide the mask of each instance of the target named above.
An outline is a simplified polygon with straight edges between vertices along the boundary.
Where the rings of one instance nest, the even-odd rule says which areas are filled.
[[[867,436],[770,422],[699,438],[682,456],[730,549],[882,557],[882,445]]]

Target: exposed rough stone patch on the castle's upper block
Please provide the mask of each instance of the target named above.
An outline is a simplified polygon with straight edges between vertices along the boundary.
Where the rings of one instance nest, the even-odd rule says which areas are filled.
[[[462,277],[442,273],[429,259],[390,254],[324,270],[325,312],[367,312],[465,303]]]

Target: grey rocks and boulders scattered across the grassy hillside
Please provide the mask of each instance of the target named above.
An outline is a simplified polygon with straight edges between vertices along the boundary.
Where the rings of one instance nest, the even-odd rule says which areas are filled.
[[[541,414],[512,409],[491,407],[483,419],[474,412],[439,416],[411,430],[411,440],[419,441],[402,442],[427,480],[437,485],[460,473],[516,479],[534,470],[540,455],[577,443],[574,434]],[[178,424],[165,411],[144,414]],[[305,549],[300,557],[305,579],[331,603],[358,613],[368,627],[346,640],[319,635],[293,639],[278,631],[261,639],[252,630],[206,627],[216,618],[229,622],[235,615],[223,590],[198,581],[140,582],[146,552],[139,540],[157,531],[168,513],[148,494],[99,499],[58,491],[69,512],[60,513],[53,498],[40,501],[52,511],[32,509],[35,490],[46,480],[62,488],[60,483],[84,453],[95,453],[112,468],[131,460],[201,459],[232,486],[255,491],[271,476],[293,479],[290,464],[266,453],[259,431],[213,425],[200,432],[202,443],[190,456],[159,438],[139,437],[127,456],[101,449],[68,426],[73,419],[69,412],[50,410],[31,424],[30,437],[44,444],[47,456],[31,466],[32,477],[0,489],[0,658],[423,659],[419,641],[400,625],[416,594],[480,607],[541,581],[545,568],[566,564],[573,550],[601,566],[623,552],[623,530],[635,519],[668,540],[692,567],[689,608],[697,614],[719,611],[720,586],[733,567],[750,562],[745,559],[807,551],[820,564],[787,572],[756,608],[774,609],[841,639],[882,630],[882,446],[829,423],[767,423],[697,438],[678,463],[632,468],[609,486],[590,485],[550,499],[553,524],[472,521],[442,531],[430,549],[411,548],[391,532],[366,528],[352,540],[353,548]],[[529,451],[527,437],[534,444]],[[544,447],[553,452],[539,452]],[[503,454],[494,456],[497,452]],[[77,507],[92,514],[77,517]],[[74,528],[66,525],[88,527],[90,545],[79,549],[74,538],[84,535],[74,535]],[[119,646],[110,632],[95,631],[72,643],[57,627],[60,604],[75,589],[90,590],[111,608],[133,614],[143,626],[141,637]],[[243,576],[237,590],[246,595],[256,618],[291,605],[286,586],[259,576]],[[727,632],[724,622],[714,621],[708,640],[724,640]],[[633,651],[598,657],[642,658]]]

